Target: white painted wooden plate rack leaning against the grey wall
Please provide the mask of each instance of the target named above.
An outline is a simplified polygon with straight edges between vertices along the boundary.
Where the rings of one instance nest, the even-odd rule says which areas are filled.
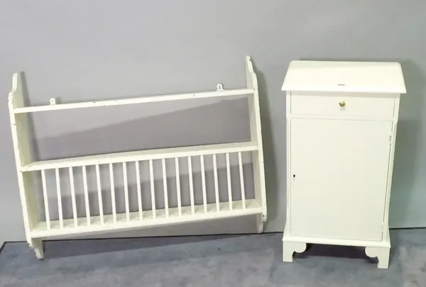
[[[146,96],[133,99],[117,99],[107,101],[89,101],[84,103],[56,103],[55,99],[50,99],[48,106],[24,106],[24,93],[26,86],[21,73],[13,74],[13,86],[9,93],[9,112],[11,117],[11,133],[13,137],[13,148],[16,159],[16,170],[18,174],[18,186],[21,196],[21,206],[23,211],[23,222],[26,231],[26,239],[31,248],[35,250],[38,259],[44,258],[43,238],[45,237],[67,237],[67,235],[89,235],[94,232],[109,232],[116,230],[131,230],[148,226],[164,226],[178,223],[188,223],[201,220],[214,220],[221,218],[232,218],[243,215],[257,215],[257,230],[263,231],[263,222],[266,221],[266,190],[265,174],[263,167],[263,149],[261,136],[261,118],[258,100],[258,82],[253,70],[251,57],[246,57],[246,88],[245,89],[223,89],[221,84],[217,85],[216,91],[204,91],[191,94],[172,94],[165,96]],[[31,141],[28,134],[29,122],[28,113],[43,111],[66,110],[73,108],[94,108],[104,106],[119,106],[138,103],[152,103],[160,101],[178,101],[185,99],[201,99],[209,97],[226,97],[247,95],[250,115],[250,142],[231,142],[218,145],[199,145],[192,147],[173,147],[158,150],[141,150],[133,152],[119,152],[113,154],[95,154],[85,157],[72,157],[64,159],[53,159],[46,161],[33,161],[31,154]],[[253,163],[253,188],[254,198],[246,198],[244,188],[244,169],[242,167],[242,154],[249,152]],[[218,196],[218,176],[217,157],[225,158],[226,162],[226,186],[228,198],[220,201]],[[231,176],[229,158],[238,158],[239,176]],[[211,160],[214,169],[214,188],[207,190],[204,178],[204,160]],[[174,162],[176,175],[176,191],[178,206],[168,206],[167,195],[167,175],[165,162]],[[180,166],[179,162],[187,162],[189,176],[190,205],[184,206],[180,202]],[[192,163],[197,160],[200,163],[202,174],[202,204],[195,204],[194,187],[192,183]],[[141,190],[139,178],[139,164],[148,163],[149,179],[151,188]],[[155,194],[157,193],[153,184],[153,164],[159,162],[163,170],[163,191],[164,208],[155,208]],[[116,211],[116,192],[114,191],[114,169],[113,165],[119,164],[122,167],[124,178],[124,198],[125,212]],[[103,198],[101,187],[101,174],[99,167],[109,167],[111,198]],[[89,204],[87,188],[87,169],[94,168],[96,171],[95,181],[97,185],[97,201],[99,203],[99,215],[91,216],[91,206]],[[133,169],[133,170],[131,170]],[[82,173],[82,189],[84,194],[83,209],[84,216],[77,214],[77,201],[75,193],[77,185],[74,182],[75,172]],[[48,186],[46,184],[46,174],[52,172],[55,178],[56,195],[58,201],[58,220],[50,218],[48,206]],[[129,188],[127,188],[127,176],[136,172],[138,210],[131,211],[129,208]],[[35,175],[34,175],[35,173]],[[68,181],[64,182],[63,174],[67,174]],[[34,177],[38,176],[42,183],[43,203],[36,203]],[[231,181],[239,181],[241,198],[233,200],[231,191]],[[68,184],[72,199],[72,217],[64,218],[62,215],[62,195],[61,186]],[[81,188],[78,186],[78,188]],[[141,193],[151,193],[151,208],[142,209]],[[207,203],[207,194],[214,193],[214,203]],[[104,212],[104,203],[111,204],[111,214]],[[44,214],[40,218],[39,214]],[[81,215],[81,214],[80,214]]]

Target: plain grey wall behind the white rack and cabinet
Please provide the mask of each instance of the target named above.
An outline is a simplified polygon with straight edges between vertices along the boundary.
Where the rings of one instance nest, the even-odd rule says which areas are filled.
[[[414,1],[0,1],[0,244],[24,240],[6,97],[25,71],[32,104],[244,86],[256,64],[268,189],[267,231],[285,223],[285,97],[290,60],[395,60],[400,106],[391,227],[426,225],[426,3]],[[94,110],[92,110],[94,111]],[[44,113],[42,158],[244,140],[241,100]],[[132,131],[131,128],[139,128]],[[160,134],[158,134],[160,133]],[[111,136],[114,134],[114,136]],[[131,142],[131,140],[136,142]],[[112,236],[253,232],[254,218]],[[111,235],[109,235],[111,236]]]

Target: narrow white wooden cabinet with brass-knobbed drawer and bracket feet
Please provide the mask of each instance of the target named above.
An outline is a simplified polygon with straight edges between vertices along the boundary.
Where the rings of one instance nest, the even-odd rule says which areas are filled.
[[[353,245],[378,257],[378,268],[388,268],[396,125],[405,93],[400,65],[295,61],[283,89],[283,261],[293,261],[300,244]]]

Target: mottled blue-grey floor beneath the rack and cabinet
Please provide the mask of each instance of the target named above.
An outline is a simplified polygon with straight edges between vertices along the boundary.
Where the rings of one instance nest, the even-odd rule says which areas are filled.
[[[426,230],[392,230],[389,269],[364,249],[312,245],[281,261],[281,234],[65,240],[35,259],[6,243],[0,286],[426,286]]]

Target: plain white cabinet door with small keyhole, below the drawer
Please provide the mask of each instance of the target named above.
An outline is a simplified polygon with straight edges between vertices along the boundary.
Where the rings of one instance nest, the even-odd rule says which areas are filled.
[[[292,119],[290,232],[381,240],[392,122]]]

